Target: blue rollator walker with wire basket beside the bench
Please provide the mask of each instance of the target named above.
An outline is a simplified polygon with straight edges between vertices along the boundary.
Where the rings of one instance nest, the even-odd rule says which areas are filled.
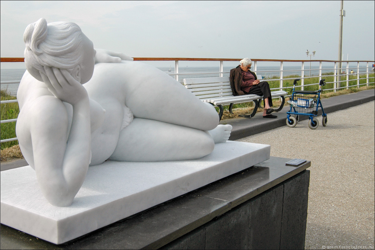
[[[326,79],[321,79],[319,82],[319,90],[317,91],[304,91],[295,90],[297,81],[293,82],[292,97],[288,103],[290,104],[290,111],[287,112],[287,125],[288,127],[295,127],[299,120],[299,115],[309,116],[309,128],[316,129],[319,126],[319,121],[316,118],[318,115],[318,108],[322,109],[322,124],[327,126],[327,114],[324,113],[322,102],[320,101],[320,93],[323,91],[322,86],[326,85]]]

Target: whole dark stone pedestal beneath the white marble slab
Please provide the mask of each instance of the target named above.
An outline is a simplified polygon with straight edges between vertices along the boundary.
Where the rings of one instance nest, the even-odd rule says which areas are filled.
[[[1,225],[1,249],[304,249],[310,166],[271,159],[64,244]]]

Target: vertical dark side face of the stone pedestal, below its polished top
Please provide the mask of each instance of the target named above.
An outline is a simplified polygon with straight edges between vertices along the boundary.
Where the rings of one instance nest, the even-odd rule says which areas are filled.
[[[303,171],[161,249],[305,249],[309,177]]]

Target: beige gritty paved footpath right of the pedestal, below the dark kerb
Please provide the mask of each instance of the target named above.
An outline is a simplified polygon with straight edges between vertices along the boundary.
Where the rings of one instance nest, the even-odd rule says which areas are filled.
[[[271,145],[271,156],[311,161],[305,249],[374,249],[374,101],[237,141]],[[361,248],[362,247],[362,248]]]

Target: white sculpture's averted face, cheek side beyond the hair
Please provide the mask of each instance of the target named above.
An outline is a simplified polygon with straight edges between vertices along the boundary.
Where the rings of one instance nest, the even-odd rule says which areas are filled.
[[[95,54],[92,41],[83,34],[83,60],[81,63],[81,84],[88,82],[93,76]]]

